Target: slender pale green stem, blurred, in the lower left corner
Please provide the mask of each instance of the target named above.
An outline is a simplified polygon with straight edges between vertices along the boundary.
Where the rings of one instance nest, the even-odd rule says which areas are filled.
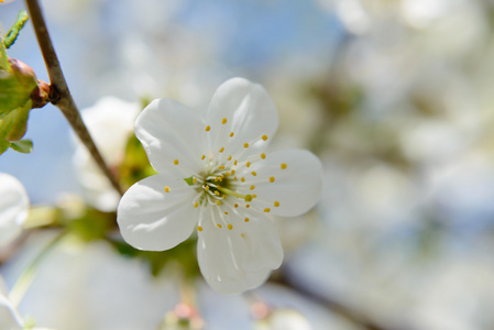
[[[24,272],[15,282],[14,286],[10,290],[9,299],[14,307],[19,306],[29,287],[33,283],[36,268],[43,258],[62,241],[65,237],[65,232],[59,232],[55,239],[53,239],[28,265]]]

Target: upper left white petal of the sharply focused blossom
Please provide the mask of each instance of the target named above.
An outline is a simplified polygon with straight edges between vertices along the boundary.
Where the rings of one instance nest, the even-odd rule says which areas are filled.
[[[160,173],[190,177],[201,170],[206,125],[199,113],[169,99],[151,102],[135,121],[135,135]],[[179,165],[174,165],[178,160]]]

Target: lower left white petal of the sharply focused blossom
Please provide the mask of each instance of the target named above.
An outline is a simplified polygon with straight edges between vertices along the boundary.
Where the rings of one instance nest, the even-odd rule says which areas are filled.
[[[199,219],[194,208],[196,196],[193,187],[168,174],[136,183],[123,195],[117,211],[123,239],[140,250],[174,248],[190,235]]]

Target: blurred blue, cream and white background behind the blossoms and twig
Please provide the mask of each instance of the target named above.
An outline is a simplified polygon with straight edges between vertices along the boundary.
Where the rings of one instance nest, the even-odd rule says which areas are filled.
[[[205,329],[253,329],[255,299],[299,311],[315,330],[370,329],[355,315],[382,329],[494,329],[492,1],[43,6],[80,109],[105,96],[206,107],[222,81],[242,76],[264,85],[277,106],[274,147],[321,158],[316,209],[281,226],[290,286],[224,297],[199,280]],[[3,31],[24,8],[0,8]],[[9,55],[48,80],[30,23]],[[33,110],[33,153],[0,157],[0,172],[19,178],[34,206],[85,196],[69,131],[55,107]],[[8,285],[46,237],[31,235],[2,264]],[[180,301],[176,282],[151,277],[102,242],[64,244],[40,266],[20,311],[58,330],[156,329]]]

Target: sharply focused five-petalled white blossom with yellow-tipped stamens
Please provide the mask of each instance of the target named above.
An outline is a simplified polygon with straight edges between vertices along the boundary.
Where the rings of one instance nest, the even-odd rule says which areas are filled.
[[[139,116],[135,135],[158,174],[122,197],[123,239],[161,251],[197,228],[199,266],[212,288],[233,294],[261,285],[283,260],[271,216],[306,212],[322,185],[310,152],[264,153],[277,122],[264,88],[241,78],[221,85],[205,113],[154,100]]]

